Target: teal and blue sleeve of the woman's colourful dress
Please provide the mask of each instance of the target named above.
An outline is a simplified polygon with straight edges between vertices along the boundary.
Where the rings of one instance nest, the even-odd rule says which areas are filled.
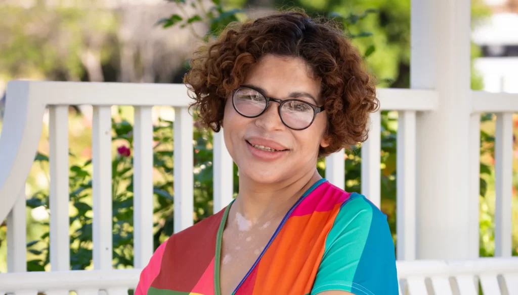
[[[311,295],[329,290],[398,294],[394,242],[386,215],[359,194],[342,204],[329,231]]]

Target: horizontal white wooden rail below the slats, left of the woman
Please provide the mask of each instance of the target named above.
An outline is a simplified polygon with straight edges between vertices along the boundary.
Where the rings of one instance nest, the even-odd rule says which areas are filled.
[[[135,289],[141,271],[142,269],[117,269],[3,273],[0,275],[0,286],[7,293],[23,289]]]

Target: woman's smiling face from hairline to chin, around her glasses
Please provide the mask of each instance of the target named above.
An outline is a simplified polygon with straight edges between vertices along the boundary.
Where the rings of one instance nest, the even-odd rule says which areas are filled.
[[[262,89],[267,97],[296,98],[323,105],[319,96],[320,82],[313,79],[301,58],[267,55],[249,71],[243,85]],[[243,92],[243,95],[248,94]],[[328,146],[323,138],[327,123],[325,112],[316,114],[307,129],[293,130],[281,121],[278,106],[277,102],[270,101],[262,115],[247,118],[236,112],[232,97],[227,99],[223,119],[225,145],[239,167],[240,177],[275,183],[312,174],[319,147]]]

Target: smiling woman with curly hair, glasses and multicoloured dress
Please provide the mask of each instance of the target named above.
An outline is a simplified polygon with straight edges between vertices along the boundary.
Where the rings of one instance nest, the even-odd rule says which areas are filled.
[[[229,26],[185,76],[239,167],[225,209],[172,235],[136,295],[397,294],[386,216],[316,161],[367,137],[375,84],[340,29],[283,12]]]

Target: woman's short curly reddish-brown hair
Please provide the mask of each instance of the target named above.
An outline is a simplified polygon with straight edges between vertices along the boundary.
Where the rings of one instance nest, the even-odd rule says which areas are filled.
[[[184,83],[203,126],[220,131],[226,98],[266,54],[303,58],[321,81],[329,146],[320,148],[319,157],[367,139],[369,113],[379,107],[375,81],[343,29],[299,11],[230,24],[217,40],[196,50]]]

